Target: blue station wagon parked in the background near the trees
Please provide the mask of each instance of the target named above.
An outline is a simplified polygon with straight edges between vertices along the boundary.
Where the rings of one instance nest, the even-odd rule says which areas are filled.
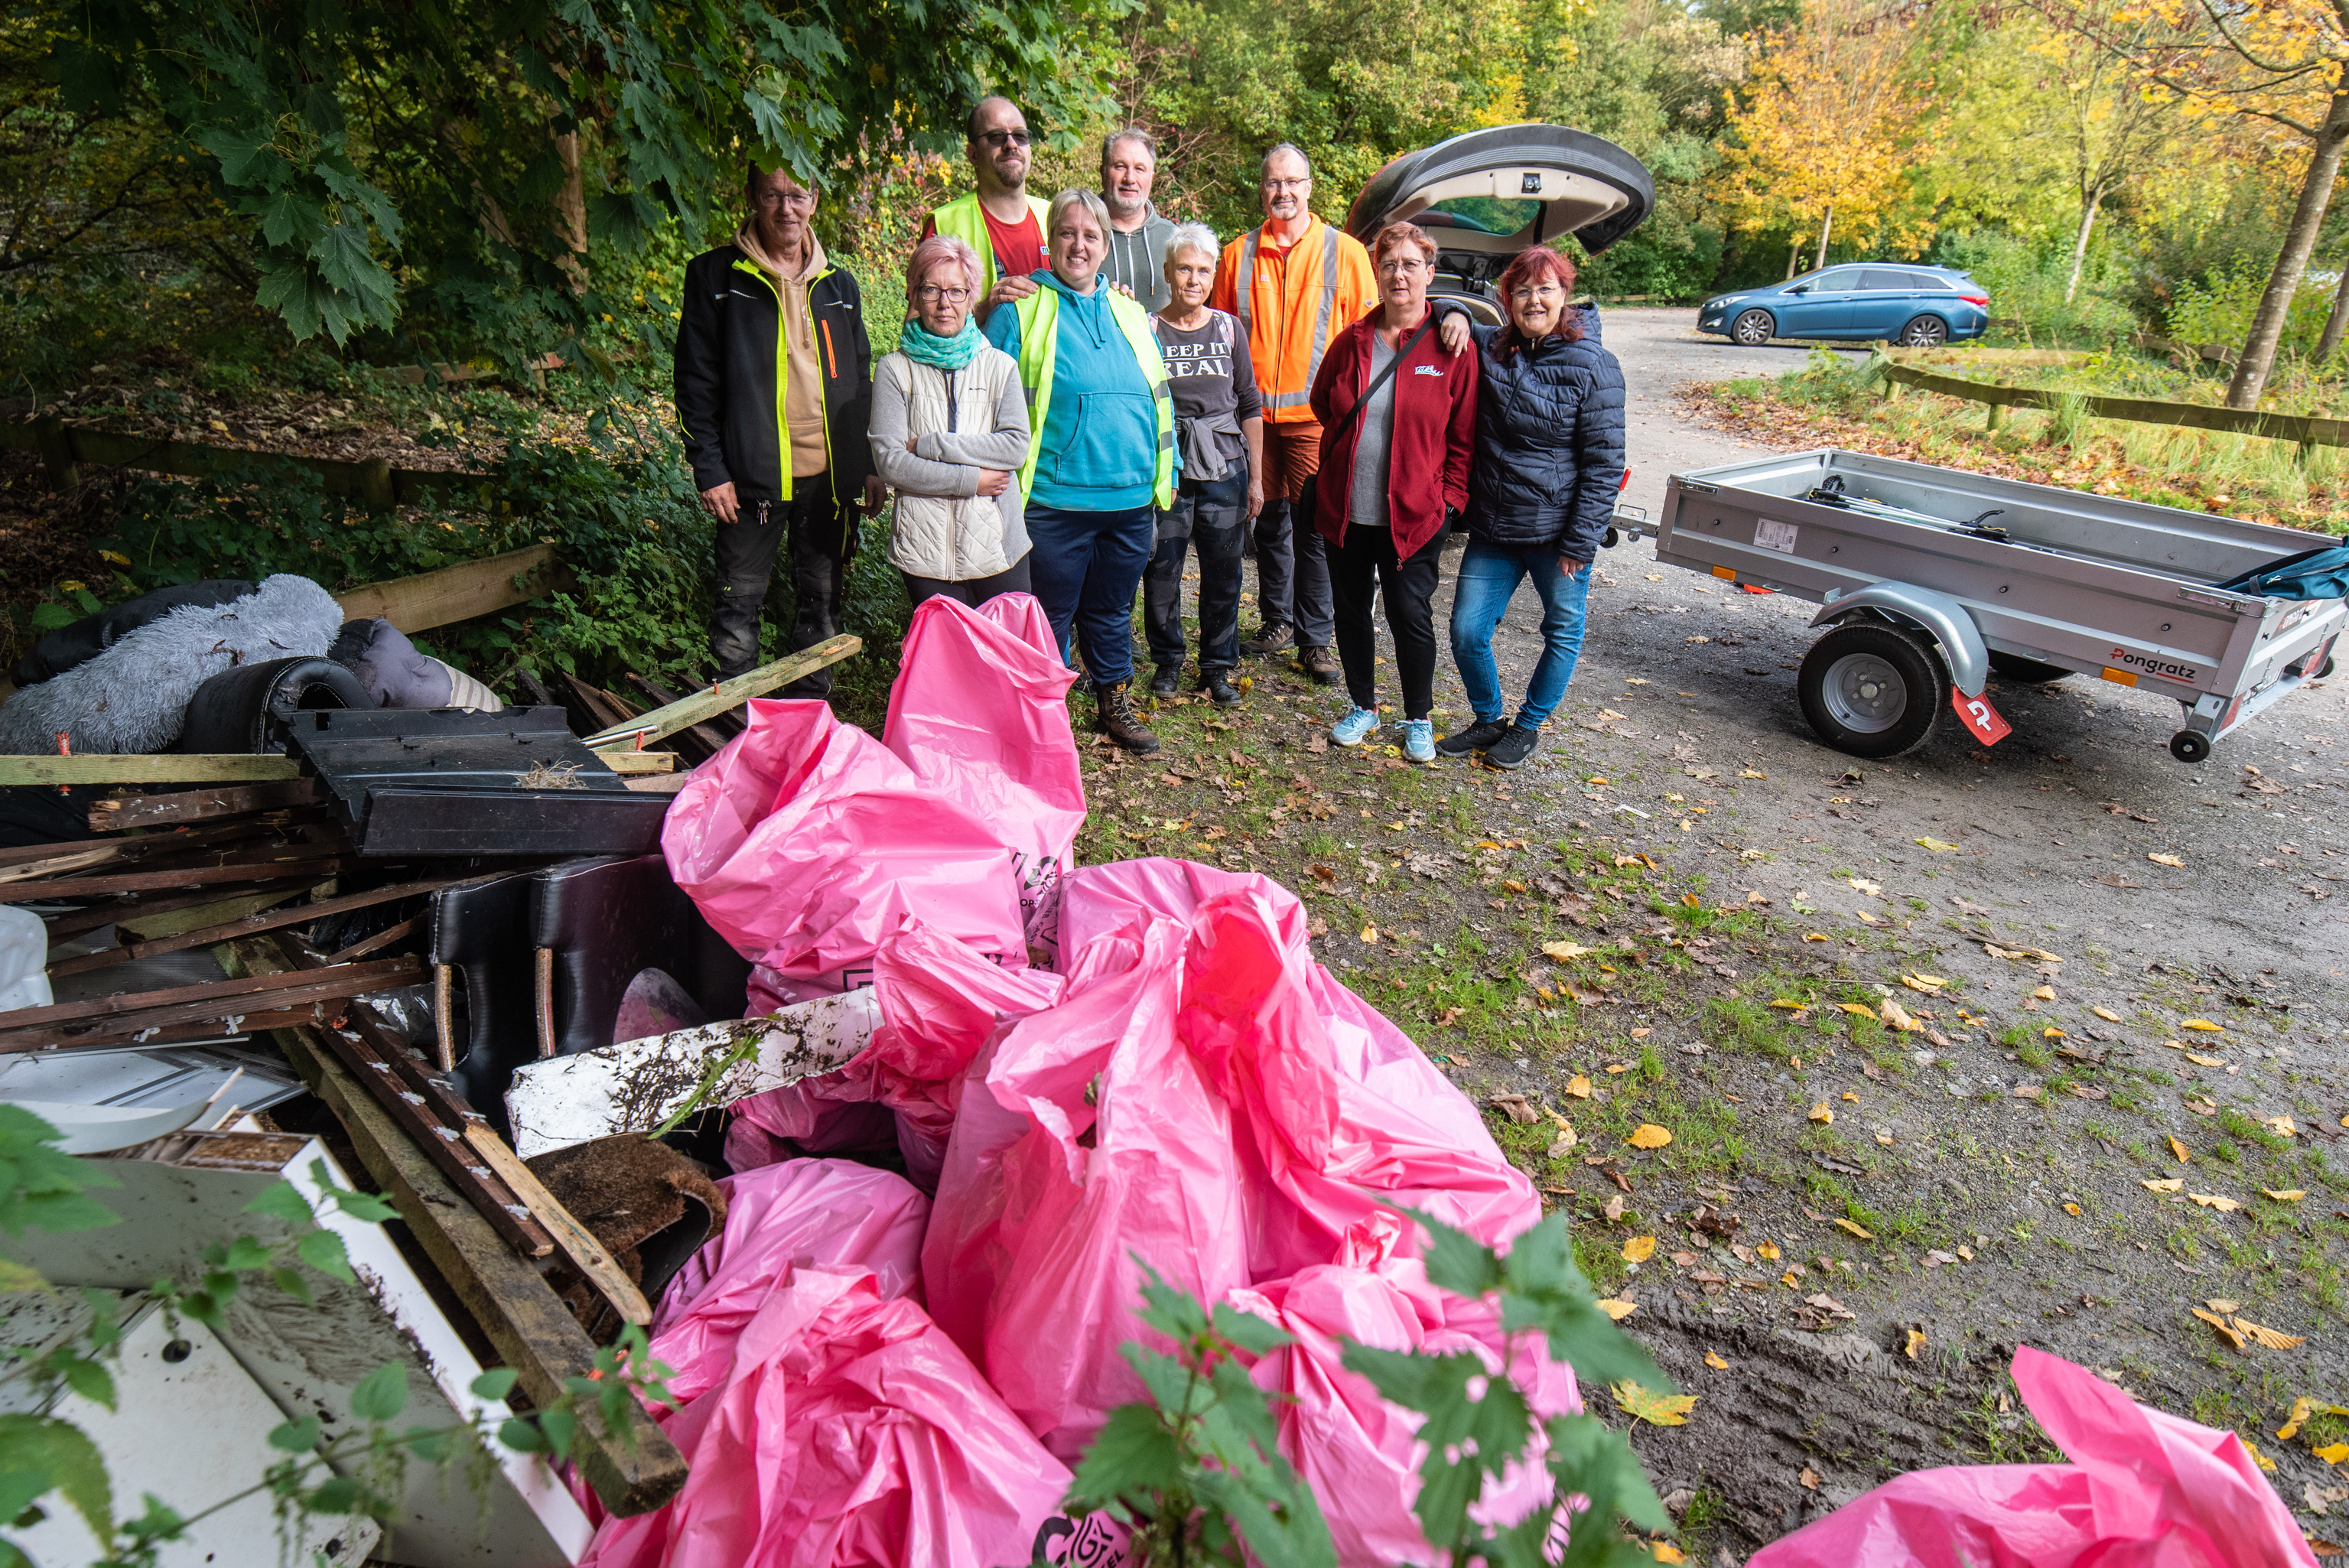
[[[1851,338],[1933,347],[1980,338],[1990,291],[1950,268],[1858,263],[1766,289],[1719,293],[1696,307],[1696,331],[1759,347],[1771,338]]]

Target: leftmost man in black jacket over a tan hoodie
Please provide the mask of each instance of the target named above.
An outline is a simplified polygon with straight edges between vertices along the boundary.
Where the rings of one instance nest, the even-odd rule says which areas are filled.
[[[677,418],[702,509],[716,519],[709,655],[719,676],[759,664],[759,608],[775,552],[792,549],[792,650],[841,631],[857,514],[881,509],[864,425],[871,343],[857,279],[815,239],[815,192],[756,164],[733,244],[686,263],[677,324]],[[824,697],[832,671],[785,697]]]

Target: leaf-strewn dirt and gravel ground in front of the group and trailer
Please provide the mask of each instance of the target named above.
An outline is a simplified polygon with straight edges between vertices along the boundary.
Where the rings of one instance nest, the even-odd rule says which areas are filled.
[[[1607,317],[1630,505],[1762,451],[1682,385],[1799,359],[1689,324]],[[2349,1476],[2314,1448],[2349,1420],[2274,1434],[2300,1397],[2349,1404],[2349,678],[2199,768],[2168,756],[2173,704],[2081,678],[1994,688],[1997,749],[1943,723],[1856,763],[1795,699],[1809,615],[1602,554],[1515,775],[1327,746],[1344,699],[1252,664],[1233,714],[1167,702],[1160,756],[1085,749],[1081,852],[1280,878],[1322,960],[1487,1106],[1696,1394],[1633,1434],[1691,1561],[1903,1469],[2053,1458],[2020,1343],[2239,1430],[2344,1537]],[[1536,620],[1525,596],[1503,622],[1506,683]],[[1468,716],[1449,657],[1438,714]],[[1635,1148],[1642,1124],[1672,1143]]]

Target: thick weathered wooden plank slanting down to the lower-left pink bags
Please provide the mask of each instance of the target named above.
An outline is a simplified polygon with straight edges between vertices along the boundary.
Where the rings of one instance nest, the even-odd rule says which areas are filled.
[[[519,1373],[531,1401],[554,1404],[568,1378],[590,1376],[594,1345],[578,1319],[538,1270],[514,1256],[489,1221],[456,1195],[416,1141],[369,1099],[350,1068],[327,1052],[317,1030],[284,1028],[275,1040],[294,1070],[343,1122],[369,1176],[399,1209],[399,1218],[472,1312],[498,1359]],[[648,1514],[684,1488],[686,1460],[634,1401],[625,1420],[625,1432],[608,1432],[594,1408],[580,1411],[576,1458],[604,1507],[622,1516]]]

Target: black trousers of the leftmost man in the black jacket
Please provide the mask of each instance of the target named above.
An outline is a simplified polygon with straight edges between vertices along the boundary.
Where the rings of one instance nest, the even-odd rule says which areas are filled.
[[[855,509],[832,500],[832,477],[792,479],[792,500],[742,507],[731,523],[716,523],[719,592],[709,615],[709,657],[719,678],[759,667],[759,610],[775,577],[775,554],[792,549],[789,653],[841,634],[841,594],[848,556],[855,552]],[[832,669],[817,669],[785,685],[778,697],[829,697]]]

